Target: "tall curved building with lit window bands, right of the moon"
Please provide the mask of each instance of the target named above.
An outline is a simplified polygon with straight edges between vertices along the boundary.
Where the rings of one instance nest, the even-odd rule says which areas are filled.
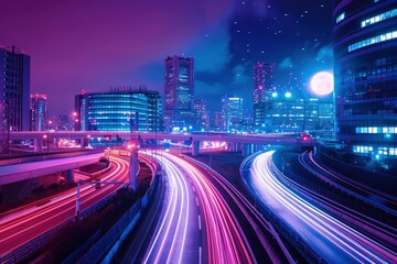
[[[339,147],[350,162],[396,169],[397,2],[336,0],[333,15]]]

